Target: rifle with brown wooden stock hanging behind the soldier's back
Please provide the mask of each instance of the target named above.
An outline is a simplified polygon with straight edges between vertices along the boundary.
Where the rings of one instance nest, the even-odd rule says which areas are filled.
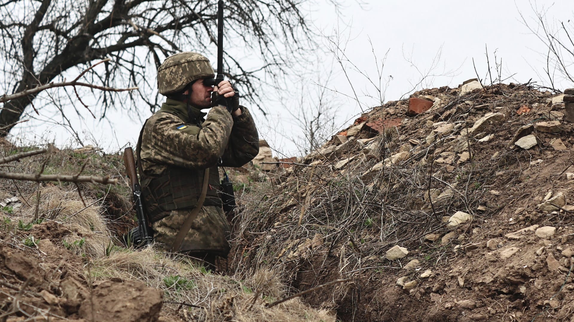
[[[134,152],[131,148],[123,150],[123,165],[126,167],[127,176],[130,178],[131,191],[134,193],[135,212],[138,216],[138,227],[129,232],[127,240],[134,245],[146,246],[152,243],[153,236],[148,226],[148,217],[144,212],[144,205],[141,200],[142,192],[139,187],[138,175],[135,173]]]

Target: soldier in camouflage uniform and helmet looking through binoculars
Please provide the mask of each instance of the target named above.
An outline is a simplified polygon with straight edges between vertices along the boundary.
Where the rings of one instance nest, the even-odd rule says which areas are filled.
[[[199,53],[166,58],[158,69],[157,84],[167,99],[145,122],[136,150],[154,239],[166,251],[203,259],[211,268],[216,256],[227,258],[230,250],[230,226],[218,196],[218,166],[242,166],[259,151],[253,118],[246,107],[239,106],[229,82],[216,87],[219,96],[209,113],[200,111],[212,106],[215,89],[204,81],[214,76],[209,60]],[[179,249],[172,249],[181,226],[198,206],[206,169],[203,205]]]

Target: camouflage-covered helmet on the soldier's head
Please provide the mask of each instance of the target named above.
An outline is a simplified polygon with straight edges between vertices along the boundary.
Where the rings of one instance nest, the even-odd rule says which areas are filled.
[[[157,88],[162,95],[184,90],[194,80],[215,77],[207,57],[195,52],[176,53],[169,56],[157,70]]]

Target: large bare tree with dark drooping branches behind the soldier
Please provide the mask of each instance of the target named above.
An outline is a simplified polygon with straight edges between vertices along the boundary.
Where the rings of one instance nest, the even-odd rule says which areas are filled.
[[[244,68],[241,57],[224,53],[226,71],[240,91],[255,101],[261,72],[279,79],[300,59],[311,31],[300,11],[308,0],[227,0],[224,13],[226,44],[244,49],[261,63]],[[333,3],[334,4],[334,3]],[[86,69],[93,60],[111,58],[104,71],[88,71],[88,83],[129,88],[131,104],[158,107],[155,76],[162,60],[172,53],[214,52],[216,1],[209,0],[7,0],[0,3],[0,52],[3,90],[7,95],[51,83],[74,68]],[[288,53],[288,54],[287,54]],[[156,68],[149,68],[155,66]],[[275,77],[275,78],[273,78]],[[117,103],[115,92],[92,88],[103,106]],[[5,136],[33,104],[37,92],[6,102],[0,111],[0,135]],[[263,111],[264,112],[264,111]]]

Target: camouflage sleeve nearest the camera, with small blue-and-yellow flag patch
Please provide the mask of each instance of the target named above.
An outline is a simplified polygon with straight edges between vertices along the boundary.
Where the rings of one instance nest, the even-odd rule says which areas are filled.
[[[146,123],[142,134],[142,166],[150,162],[205,169],[217,164],[234,127],[224,107],[212,108],[201,129],[183,123],[175,115],[159,114]]]

